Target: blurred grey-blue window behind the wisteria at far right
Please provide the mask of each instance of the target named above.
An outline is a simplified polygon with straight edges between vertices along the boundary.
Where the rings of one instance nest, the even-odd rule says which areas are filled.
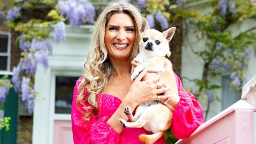
[[[230,76],[222,76],[222,110],[225,110],[241,99],[242,90],[230,86],[232,82]]]

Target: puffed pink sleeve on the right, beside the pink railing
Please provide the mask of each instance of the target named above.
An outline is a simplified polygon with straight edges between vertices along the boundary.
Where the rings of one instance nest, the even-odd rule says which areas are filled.
[[[174,73],[178,86],[180,102],[173,112],[172,132],[178,138],[187,138],[204,123],[203,108],[195,96],[186,92],[180,78]]]

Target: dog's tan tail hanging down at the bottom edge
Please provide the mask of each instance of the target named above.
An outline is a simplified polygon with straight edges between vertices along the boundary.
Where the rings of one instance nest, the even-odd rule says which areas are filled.
[[[139,139],[140,141],[143,143],[143,144],[153,144],[156,140],[158,140],[159,138],[161,138],[161,136],[166,132],[165,131],[160,131],[160,132],[156,132],[154,134],[150,134],[150,135],[147,135],[147,134],[141,134],[139,136]]]

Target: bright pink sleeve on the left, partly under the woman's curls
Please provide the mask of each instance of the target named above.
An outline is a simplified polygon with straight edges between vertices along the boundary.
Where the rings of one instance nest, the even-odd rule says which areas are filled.
[[[108,116],[98,119],[94,116],[90,121],[82,119],[82,113],[76,108],[76,98],[78,96],[78,86],[83,78],[79,78],[74,87],[72,102],[72,132],[74,144],[120,144],[123,143],[122,135],[118,134],[110,125],[107,124]],[[86,103],[86,106],[90,104]],[[82,109],[82,105],[79,105]]]

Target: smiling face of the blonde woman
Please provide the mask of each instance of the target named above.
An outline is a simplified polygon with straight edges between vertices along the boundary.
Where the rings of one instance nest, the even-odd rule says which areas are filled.
[[[129,60],[134,40],[132,17],[125,13],[110,16],[105,30],[105,46],[110,60]]]

